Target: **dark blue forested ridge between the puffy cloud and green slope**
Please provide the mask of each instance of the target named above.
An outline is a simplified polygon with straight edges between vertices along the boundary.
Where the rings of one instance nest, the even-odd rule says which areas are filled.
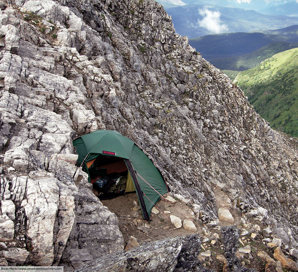
[[[232,79],[235,71],[252,69],[263,60],[286,50],[298,47],[298,25],[264,33],[228,33],[207,35],[190,39],[210,63],[224,71]]]

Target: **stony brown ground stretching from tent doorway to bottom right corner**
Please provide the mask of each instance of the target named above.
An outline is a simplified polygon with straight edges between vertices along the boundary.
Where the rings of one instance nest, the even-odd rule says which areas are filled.
[[[118,217],[119,228],[125,241],[125,251],[156,240],[196,233],[201,240],[197,265],[210,271],[225,271],[231,259],[225,257],[229,255],[225,254],[226,237],[223,237],[222,230],[230,228],[232,224],[239,230],[235,237],[233,235],[229,237],[229,239],[238,239],[235,242],[235,258],[232,262],[238,265],[239,269],[243,271],[249,271],[248,269],[252,269],[251,271],[281,272],[285,269],[296,271],[298,263],[295,261],[298,260],[298,255],[296,255],[298,251],[289,251],[290,246],[287,244],[287,241],[290,241],[289,236],[286,237],[285,233],[278,232],[280,230],[275,228],[276,222],[268,220],[266,210],[255,209],[242,213],[243,210],[238,206],[244,207],[244,203],[238,203],[237,206],[236,201],[233,205],[220,186],[214,184],[212,189],[218,202],[218,209],[226,209],[230,213],[230,216],[223,213],[223,216],[219,216],[216,222],[201,220],[200,211],[196,210],[196,205],[190,204],[189,200],[178,194],[173,198],[164,196],[171,202],[159,200],[156,203],[157,209],[152,210],[150,222],[142,219],[135,193],[102,202]],[[182,222],[188,218],[195,227],[190,229],[184,224],[176,225],[176,222],[171,222],[170,215],[181,218]],[[283,237],[283,240],[278,237]],[[280,248],[283,249],[285,255],[281,253]],[[288,257],[291,257],[291,260],[286,259]]]

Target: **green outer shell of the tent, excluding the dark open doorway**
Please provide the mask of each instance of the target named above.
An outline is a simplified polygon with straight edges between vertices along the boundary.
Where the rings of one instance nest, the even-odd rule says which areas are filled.
[[[75,139],[73,145],[79,155],[77,163],[88,173],[89,182],[88,168],[97,158],[100,156],[123,158],[146,220],[149,220],[151,209],[160,196],[169,192],[160,171],[148,156],[131,139],[117,131],[96,130]]]

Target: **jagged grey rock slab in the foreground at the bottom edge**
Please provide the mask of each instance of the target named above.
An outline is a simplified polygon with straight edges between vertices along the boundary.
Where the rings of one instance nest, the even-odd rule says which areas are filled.
[[[140,268],[148,272],[181,271],[181,268],[183,271],[195,271],[200,251],[201,240],[198,234],[171,237],[98,258],[75,271],[128,272]]]

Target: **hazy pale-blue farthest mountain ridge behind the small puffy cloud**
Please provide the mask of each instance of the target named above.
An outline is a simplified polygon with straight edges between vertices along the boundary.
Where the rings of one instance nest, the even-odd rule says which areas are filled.
[[[167,8],[166,11],[172,15],[177,33],[186,35],[188,38],[196,38],[215,33],[200,26],[200,21],[204,18],[200,11],[206,8],[212,13],[220,13],[218,25],[227,27],[227,30],[222,32],[263,32],[263,30],[280,29],[298,24],[297,16],[266,15],[254,10],[221,7],[215,4],[209,4],[208,7],[206,4],[188,4]]]

